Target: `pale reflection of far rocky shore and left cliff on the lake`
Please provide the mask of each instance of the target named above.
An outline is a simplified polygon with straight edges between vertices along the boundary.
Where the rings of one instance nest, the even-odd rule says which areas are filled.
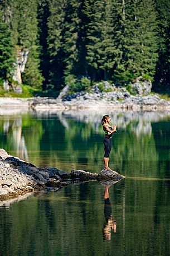
[[[135,133],[137,136],[140,134],[151,134],[152,133],[152,123],[163,120],[166,117],[170,117],[170,111],[133,111],[133,110],[110,110],[110,109],[79,109],[79,110],[56,110],[56,109],[39,109],[39,110],[23,110],[15,111],[15,109],[0,109],[1,116],[3,115],[17,115],[16,120],[11,120],[9,125],[9,118],[5,120],[3,125],[4,133],[8,133],[10,129],[13,131],[13,139],[16,141],[17,155],[21,157],[27,157],[27,149],[25,145],[25,138],[23,137],[21,131],[22,127],[22,114],[33,113],[37,118],[59,118],[62,125],[69,129],[69,119],[73,119],[76,122],[91,123],[94,126],[95,131],[100,130],[100,120],[104,114],[111,116],[111,121],[116,124],[118,129],[126,129],[130,125],[130,131]],[[19,120],[20,119],[20,120]],[[133,123],[133,125],[131,125]],[[19,136],[20,134],[20,136]],[[17,136],[19,136],[17,138]],[[26,158],[25,158],[26,159]]]

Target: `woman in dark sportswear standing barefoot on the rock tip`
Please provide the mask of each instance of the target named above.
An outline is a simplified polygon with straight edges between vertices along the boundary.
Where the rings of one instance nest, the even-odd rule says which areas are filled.
[[[103,125],[103,131],[105,132],[105,139],[103,141],[104,143],[104,169],[107,171],[112,171],[109,168],[109,154],[111,151],[111,136],[112,133],[116,132],[116,125],[114,124],[113,127],[109,125],[111,122],[111,119],[109,115],[104,115],[104,117],[101,119],[101,124]]]

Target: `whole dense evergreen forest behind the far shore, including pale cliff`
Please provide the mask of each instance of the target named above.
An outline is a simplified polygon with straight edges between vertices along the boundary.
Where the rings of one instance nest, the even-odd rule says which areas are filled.
[[[170,84],[170,0],[0,0],[0,80]],[[78,83],[77,83],[78,84]],[[80,86],[81,88],[81,86]]]

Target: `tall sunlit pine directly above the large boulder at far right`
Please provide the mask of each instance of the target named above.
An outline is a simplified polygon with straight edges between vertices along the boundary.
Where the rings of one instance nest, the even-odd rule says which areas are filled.
[[[139,20],[137,36],[140,40],[140,48],[137,47],[135,51],[139,53],[139,59],[135,59],[135,64],[138,63],[140,69],[135,69],[135,66],[133,68],[137,76],[149,77],[153,80],[158,59],[157,13],[153,0],[139,2],[137,20]],[[140,70],[139,74],[138,70]]]

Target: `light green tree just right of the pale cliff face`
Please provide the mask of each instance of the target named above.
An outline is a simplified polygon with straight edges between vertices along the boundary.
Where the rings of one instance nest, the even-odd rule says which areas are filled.
[[[18,45],[29,51],[28,61],[22,75],[23,83],[41,88],[43,77],[40,71],[40,49],[38,48],[37,1],[17,0],[20,20],[18,21]]]

